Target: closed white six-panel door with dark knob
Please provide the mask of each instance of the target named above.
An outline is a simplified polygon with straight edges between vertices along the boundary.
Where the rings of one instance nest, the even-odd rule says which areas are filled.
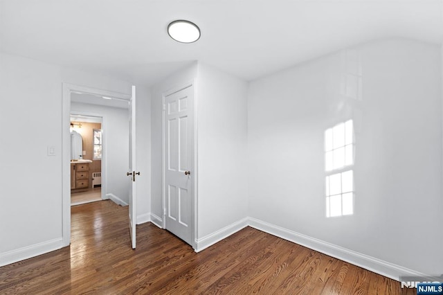
[[[165,97],[165,229],[192,245],[193,87]]]

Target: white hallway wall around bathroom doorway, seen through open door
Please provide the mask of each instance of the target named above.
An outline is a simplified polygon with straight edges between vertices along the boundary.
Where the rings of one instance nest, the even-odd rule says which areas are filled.
[[[112,194],[129,204],[129,181],[125,172],[129,159],[129,125],[128,109],[105,107],[71,102],[71,114],[76,111],[88,112],[102,116],[103,143],[105,151],[106,171],[102,175],[105,181],[105,195]]]

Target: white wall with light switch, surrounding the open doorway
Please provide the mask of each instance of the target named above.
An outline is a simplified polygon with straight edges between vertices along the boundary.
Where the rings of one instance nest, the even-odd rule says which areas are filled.
[[[62,247],[63,82],[131,92],[129,82],[0,54],[0,124],[6,138],[0,144],[0,265]],[[141,134],[148,136],[141,142],[146,147],[149,131]],[[48,146],[55,147],[55,156],[47,156]],[[145,152],[147,169],[149,149]],[[144,202],[139,204],[149,212],[150,200]]]

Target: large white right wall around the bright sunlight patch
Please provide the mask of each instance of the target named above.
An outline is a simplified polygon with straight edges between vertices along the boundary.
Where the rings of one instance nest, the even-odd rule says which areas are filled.
[[[343,96],[350,66],[343,53],[251,82],[249,214],[372,258],[442,274],[440,47],[392,39],[355,49],[362,100]],[[348,118],[356,129],[354,215],[327,218],[323,134]]]

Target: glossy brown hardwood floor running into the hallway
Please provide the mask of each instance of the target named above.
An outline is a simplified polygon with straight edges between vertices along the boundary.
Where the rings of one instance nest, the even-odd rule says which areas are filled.
[[[0,294],[415,294],[250,227],[195,253],[153,224],[129,242],[127,207],[74,206],[71,247],[0,268]]]

